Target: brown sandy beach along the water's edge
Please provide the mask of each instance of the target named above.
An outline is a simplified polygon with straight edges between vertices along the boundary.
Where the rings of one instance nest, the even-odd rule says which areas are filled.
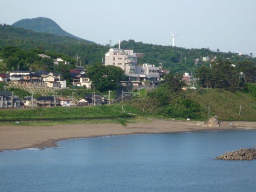
[[[0,126],[0,151],[24,148],[54,147],[56,141],[120,134],[192,132],[223,129],[256,129],[256,122],[220,122],[220,127],[205,127],[198,121],[151,119],[150,123],[115,123],[54,125],[49,127]]]

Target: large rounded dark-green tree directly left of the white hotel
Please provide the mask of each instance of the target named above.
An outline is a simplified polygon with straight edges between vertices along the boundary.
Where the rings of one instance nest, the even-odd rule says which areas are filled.
[[[113,65],[102,65],[100,62],[89,67],[87,75],[93,86],[99,91],[113,90],[120,86],[125,80],[124,71]]]

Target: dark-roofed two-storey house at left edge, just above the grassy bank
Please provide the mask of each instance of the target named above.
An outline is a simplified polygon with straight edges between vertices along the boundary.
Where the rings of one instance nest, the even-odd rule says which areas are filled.
[[[0,108],[19,108],[20,98],[11,91],[0,91]]]

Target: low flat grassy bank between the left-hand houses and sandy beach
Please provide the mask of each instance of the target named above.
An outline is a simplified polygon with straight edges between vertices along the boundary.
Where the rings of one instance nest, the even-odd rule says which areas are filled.
[[[125,108],[126,109],[126,108]],[[121,105],[96,105],[91,107],[49,107],[34,109],[2,110],[0,121],[22,120],[78,120],[115,119],[133,117],[133,109],[121,112]],[[131,113],[128,113],[131,112]]]

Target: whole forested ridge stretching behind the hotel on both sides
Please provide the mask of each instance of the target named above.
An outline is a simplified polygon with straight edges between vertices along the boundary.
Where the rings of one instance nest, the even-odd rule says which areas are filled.
[[[88,43],[85,40],[59,36],[49,33],[40,33],[0,24],[0,49],[5,46],[13,45],[22,50],[39,48],[52,53],[66,54],[71,58],[78,55],[82,65],[91,65],[95,62],[102,62],[105,59],[105,53],[109,51],[110,46]],[[118,47],[118,44],[113,47]],[[195,74],[197,69],[205,66],[209,67],[211,62],[218,59],[228,60],[232,64],[249,60],[253,63],[256,58],[250,55],[239,55],[237,53],[224,53],[220,50],[211,51],[209,48],[186,49],[182,47],[172,47],[163,45],[153,45],[149,43],[135,42],[134,40],[123,40],[122,49],[133,49],[134,53],[143,53],[144,58],[138,58],[138,63],[152,63],[159,66],[162,63],[162,69],[170,69],[176,73],[189,72]],[[203,57],[207,58],[203,61]]]

